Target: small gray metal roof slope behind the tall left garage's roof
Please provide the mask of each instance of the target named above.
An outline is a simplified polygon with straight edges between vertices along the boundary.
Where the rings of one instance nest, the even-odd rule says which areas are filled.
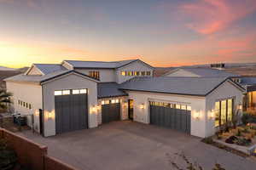
[[[55,72],[55,71],[67,71],[67,69],[62,65],[54,64],[34,64],[40,71],[45,75]]]

